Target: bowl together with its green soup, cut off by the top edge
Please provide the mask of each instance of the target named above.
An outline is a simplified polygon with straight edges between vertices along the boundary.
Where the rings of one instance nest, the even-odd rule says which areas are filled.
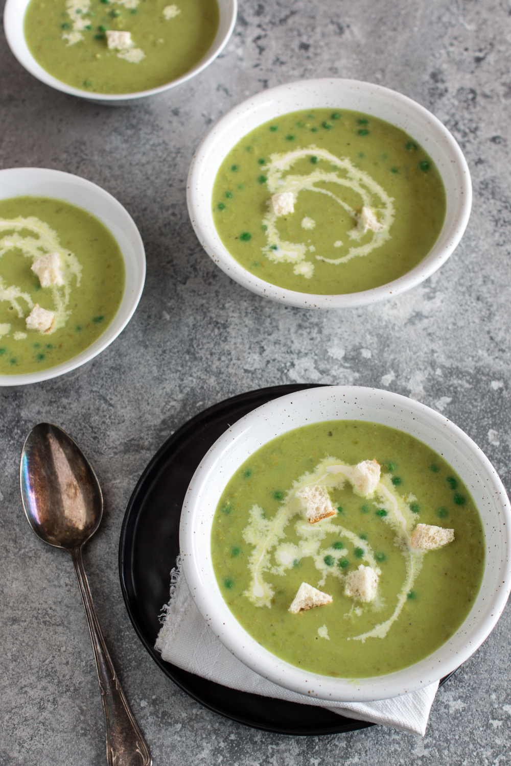
[[[237,0],[7,0],[5,36],[38,80],[125,106],[185,83],[221,53]]]

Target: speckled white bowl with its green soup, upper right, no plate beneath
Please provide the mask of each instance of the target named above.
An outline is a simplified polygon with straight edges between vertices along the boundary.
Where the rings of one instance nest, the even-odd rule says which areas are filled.
[[[453,252],[472,190],[460,147],[401,93],[356,80],[264,90],[210,130],[188,174],[198,240],[233,280],[292,306],[362,306]]]

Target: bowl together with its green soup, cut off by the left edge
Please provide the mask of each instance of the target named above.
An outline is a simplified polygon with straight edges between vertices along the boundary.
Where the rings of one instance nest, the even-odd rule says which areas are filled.
[[[129,213],[58,170],[0,171],[0,385],[89,362],[139,303],[146,256]]]

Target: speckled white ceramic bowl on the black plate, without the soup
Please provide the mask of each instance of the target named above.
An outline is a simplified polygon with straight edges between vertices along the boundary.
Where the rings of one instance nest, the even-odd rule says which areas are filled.
[[[486,535],[483,583],[467,619],[425,660],[367,679],[319,676],[280,660],[238,623],[221,596],[211,564],[211,523],[228,480],[269,440],[302,425],[347,419],[385,424],[441,453],[467,484]],[[180,548],[186,581],[202,616],[245,665],[274,683],[319,699],[363,702],[400,696],[446,676],[470,657],[499,619],[511,586],[511,512],[495,469],[477,444],[443,415],[390,391],[329,386],[270,401],[241,418],[211,447],[195,471],[183,505]]]

